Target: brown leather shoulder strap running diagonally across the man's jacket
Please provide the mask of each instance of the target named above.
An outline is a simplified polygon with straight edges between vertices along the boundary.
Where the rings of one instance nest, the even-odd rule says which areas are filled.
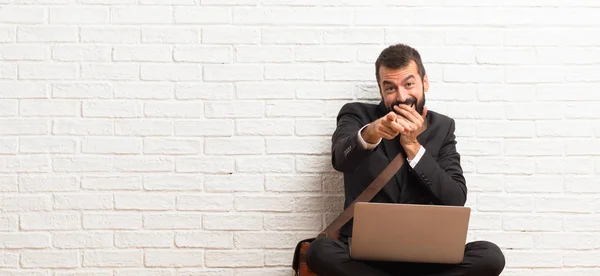
[[[339,231],[350,219],[354,216],[354,204],[357,202],[368,202],[375,197],[375,195],[381,191],[390,179],[398,172],[398,170],[404,164],[404,156],[402,153],[398,153],[390,164],[369,184],[369,186],[346,208],[325,230],[323,230],[319,237],[330,237],[338,239]]]

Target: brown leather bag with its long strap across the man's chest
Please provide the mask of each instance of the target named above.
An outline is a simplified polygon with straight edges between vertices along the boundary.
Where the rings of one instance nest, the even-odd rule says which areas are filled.
[[[328,237],[332,239],[338,239],[340,229],[346,224],[354,215],[354,204],[357,202],[368,202],[385,186],[385,184],[392,179],[392,177],[400,170],[404,164],[404,156],[402,153],[396,155],[396,157],[390,162],[390,164],[369,184],[369,186],[346,208],[325,230],[323,230],[316,238],[304,239],[298,242],[296,249],[294,250],[294,260],[292,262],[292,268],[296,276],[317,276],[316,273],[310,271],[306,264],[305,254],[310,246],[310,243],[317,238]]]

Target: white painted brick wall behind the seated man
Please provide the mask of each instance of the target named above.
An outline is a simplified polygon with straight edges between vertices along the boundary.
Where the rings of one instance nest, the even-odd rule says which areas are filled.
[[[600,274],[600,5],[0,0],[0,275],[291,275],[342,207],[339,108],[423,55],[469,239],[508,276]]]

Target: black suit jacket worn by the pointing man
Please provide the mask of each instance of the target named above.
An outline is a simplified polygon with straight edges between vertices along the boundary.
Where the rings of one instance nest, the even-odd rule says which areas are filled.
[[[386,113],[383,102],[379,105],[355,102],[344,105],[338,114],[332,137],[332,164],[344,173],[344,208],[399,152],[406,158],[399,136],[393,140],[383,139],[371,150],[359,144],[357,133],[360,128]],[[414,169],[405,161],[371,202],[464,206],[467,187],[460,155],[456,151],[454,120],[429,110],[426,118],[428,128],[417,137],[425,154]],[[341,238],[351,234],[352,220],[340,231]]]

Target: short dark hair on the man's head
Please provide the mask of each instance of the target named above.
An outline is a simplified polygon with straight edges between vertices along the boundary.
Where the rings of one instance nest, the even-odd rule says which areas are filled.
[[[375,61],[375,76],[377,78],[377,83],[379,84],[379,68],[382,65],[392,69],[399,69],[408,66],[408,63],[411,60],[414,60],[417,64],[417,70],[422,81],[425,77],[425,66],[423,66],[421,55],[416,49],[400,43],[385,48],[381,51],[381,54],[379,54],[377,61]]]

